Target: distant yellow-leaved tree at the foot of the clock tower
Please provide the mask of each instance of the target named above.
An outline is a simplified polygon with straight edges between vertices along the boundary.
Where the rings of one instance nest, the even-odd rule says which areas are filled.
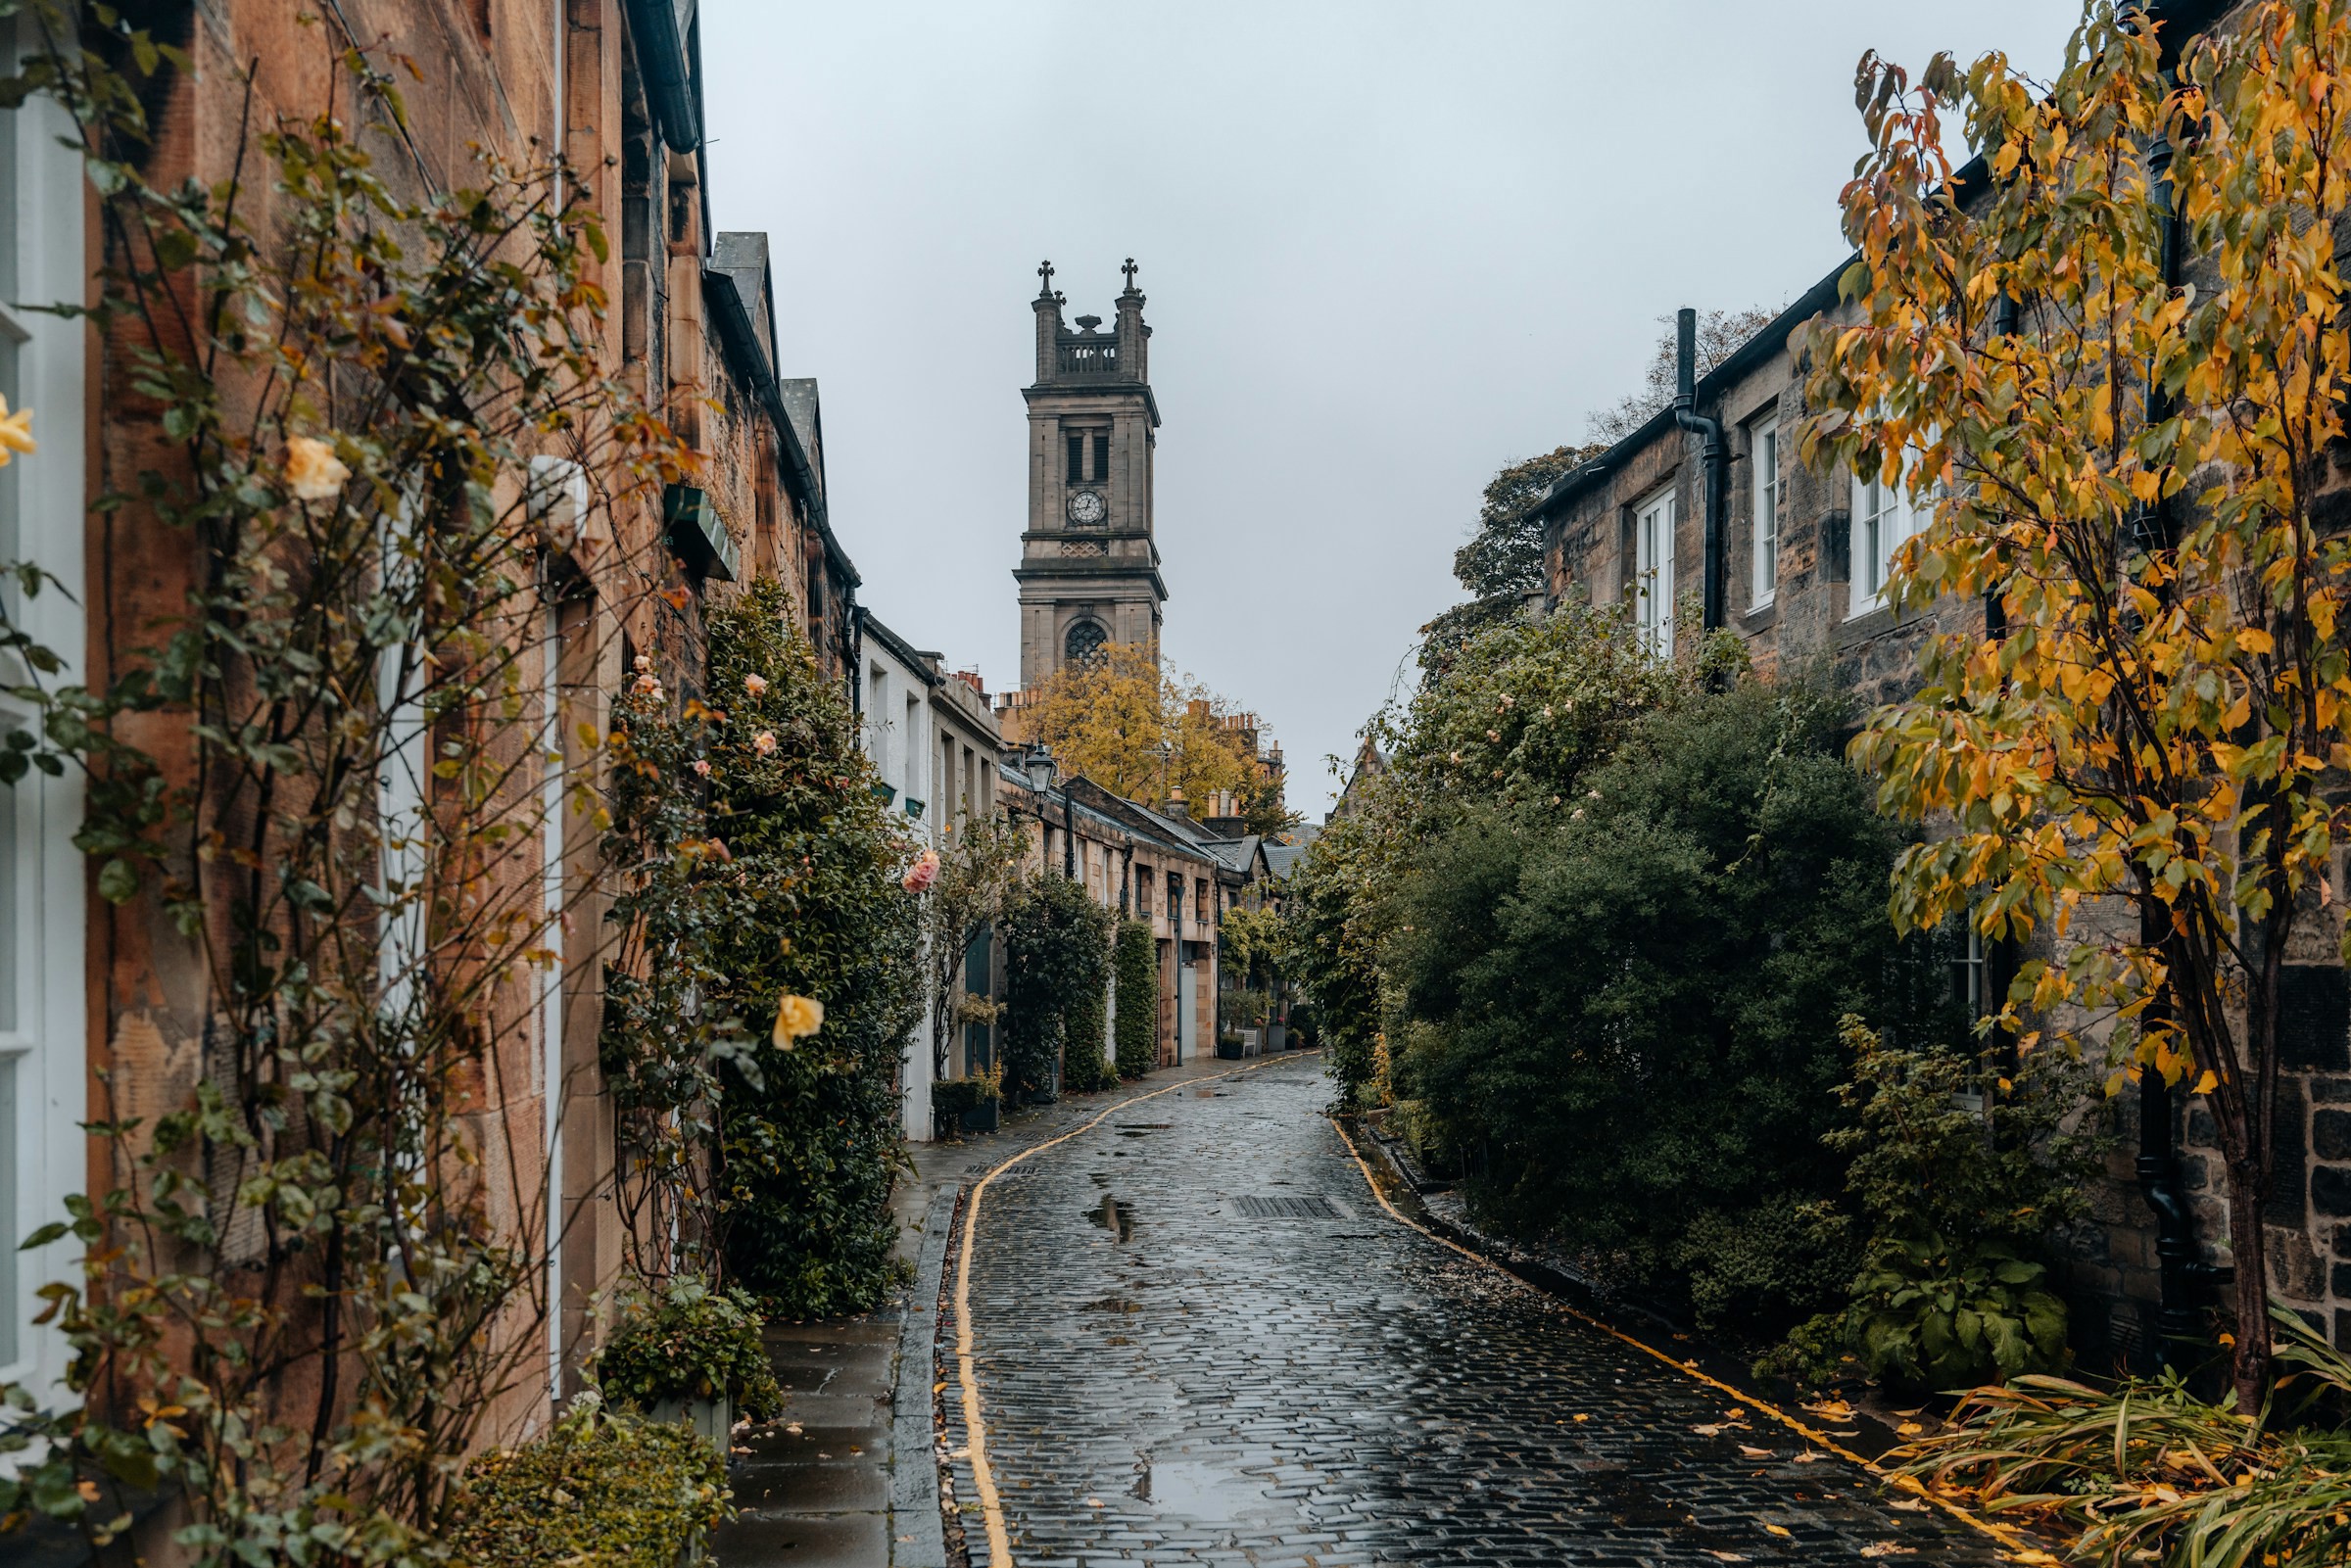
[[[1241,797],[1251,832],[1291,823],[1281,776],[1232,724],[1232,703],[1159,670],[1147,644],[1105,644],[1049,675],[1025,710],[1027,736],[1121,799],[1164,806],[1178,790],[1194,811],[1218,790]]]

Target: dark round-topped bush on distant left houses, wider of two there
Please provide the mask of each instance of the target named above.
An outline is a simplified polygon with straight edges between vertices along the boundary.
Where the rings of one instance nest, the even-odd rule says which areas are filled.
[[[1058,872],[1030,877],[1004,900],[1009,1091],[1100,1086],[1103,1070],[1093,1058],[1103,1056],[1110,922],[1110,912],[1093,903],[1079,882]]]

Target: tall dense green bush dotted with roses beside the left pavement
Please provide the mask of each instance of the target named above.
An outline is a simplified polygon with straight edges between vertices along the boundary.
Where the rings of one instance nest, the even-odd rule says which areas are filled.
[[[788,1316],[863,1312],[891,1281],[898,1053],[922,1013],[910,846],[872,795],[846,698],[762,578],[708,614],[710,837],[719,893],[703,997],[757,1046],[729,1067],[722,1220],[731,1276]],[[823,1027],[771,1044],[785,994]]]

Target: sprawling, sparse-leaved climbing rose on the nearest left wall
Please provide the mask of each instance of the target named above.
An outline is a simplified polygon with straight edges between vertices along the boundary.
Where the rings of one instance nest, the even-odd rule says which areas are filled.
[[[155,1114],[101,1074],[106,1187],[31,1239],[80,1248],[42,1288],[73,1399],[5,1389],[0,1523],[106,1542],[113,1479],[169,1497],[193,1563],[430,1561],[484,1415],[545,1375],[543,1192],[522,1173],[501,1220],[487,1168],[536,1147],[503,1077],[562,922],[536,846],[590,804],[538,679],[543,564],[576,534],[534,475],[576,463],[574,524],[618,536],[686,458],[600,357],[578,181],[489,155],[447,195],[379,176],[404,155],[395,61],[334,59],[348,122],[259,115],[219,183],[158,186],[141,89],[193,63],[110,7],[0,12],[33,38],[5,96],[80,127],[87,315],[153,421],[94,527],[188,583],[106,686],[0,630],[40,712],[0,776],[80,771],[94,886],[202,1039],[193,1086],[136,1084]],[[602,581],[658,616],[668,571]],[[484,1112],[508,1103],[529,1131]]]

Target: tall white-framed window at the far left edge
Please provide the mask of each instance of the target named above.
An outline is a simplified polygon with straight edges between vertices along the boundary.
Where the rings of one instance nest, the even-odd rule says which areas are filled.
[[[0,19],[0,73],[16,71],[28,19]],[[24,31],[21,31],[24,28]],[[82,162],[63,139],[73,122],[49,99],[0,110],[0,393],[33,409],[38,451],[0,470],[0,559],[35,559],[63,592],[9,595],[7,609],[63,670],[47,684],[85,679],[82,583],[87,498],[82,463],[82,322],[38,310],[82,301],[89,289],[82,230]],[[0,682],[26,679],[5,668]],[[0,701],[0,726],[33,724],[31,708]],[[31,1253],[19,1244],[61,1220],[66,1194],[89,1187],[89,1077],[85,980],[80,780],[28,773],[0,788],[0,1380],[26,1382],[52,1403],[63,1387],[66,1345],[31,1319],[35,1291],[75,1272],[71,1239]]]

